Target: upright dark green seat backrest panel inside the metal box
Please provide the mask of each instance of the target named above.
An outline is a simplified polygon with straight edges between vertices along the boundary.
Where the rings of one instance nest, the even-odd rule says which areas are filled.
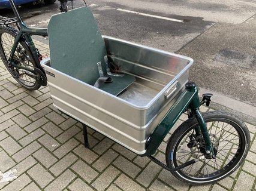
[[[100,77],[97,63],[101,62],[106,75],[106,47],[88,7],[52,16],[48,33],[54,69],[94,85]]]

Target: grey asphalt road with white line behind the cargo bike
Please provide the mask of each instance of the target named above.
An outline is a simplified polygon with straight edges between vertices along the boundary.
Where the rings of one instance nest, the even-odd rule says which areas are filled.
[[[86,2],[103,35],[192,57],[189,79],[256,106],[255,0]],[[82,5],[83,1],[74,1],[74,7]],[[50,16],[58,13],[58,2],[25,5],[20,13],[28,26],[46,27]],[[0,14],[10,16],[11,11]]]

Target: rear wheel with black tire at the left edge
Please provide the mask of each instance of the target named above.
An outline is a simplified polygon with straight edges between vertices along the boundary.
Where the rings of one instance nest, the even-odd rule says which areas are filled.
[[[20,85],[31,91],[38,90],[40,84],[38,83],[37,78],[32,78],[31,76],[26,75],[24,72],[25,70],[11,67],[8,64],[8,56],[11,53],[16,34],[17,30],[13,27],[0,26],[0,56],[8,71]],[[34,57],[25,41],[19,42],[14,54],[14,61],[20,66],[29,67],[33,70],[37,67]]]

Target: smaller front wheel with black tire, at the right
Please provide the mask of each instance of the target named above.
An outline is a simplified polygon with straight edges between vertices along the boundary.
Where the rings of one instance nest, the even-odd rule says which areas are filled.
[[[200,159],[182,170],[171,172],[176,178],[189,184],[210,184],[222,180],[242,164],[249,150],[249,131],[239,118],[225,112],[207,112],[203,117],[216,158]],[[168,167],[177,167],[203,156],[202,139],[192,135],[195,134],[195,127],[198,127],[197,120],[188,119],[171,135],[165,155]],[[189,135],[194,138],[189,138]],[[192,146],[188,143],[192,143]]]

